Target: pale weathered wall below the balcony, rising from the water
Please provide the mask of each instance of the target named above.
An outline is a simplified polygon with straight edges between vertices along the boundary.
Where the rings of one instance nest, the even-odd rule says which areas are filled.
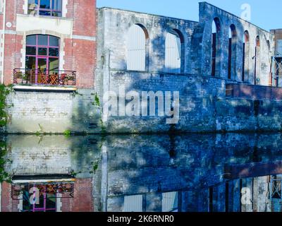
[[[10,133],[99,133],[101,116],[93,106],[94,90],[78,93],[16,91],[8,97]]]

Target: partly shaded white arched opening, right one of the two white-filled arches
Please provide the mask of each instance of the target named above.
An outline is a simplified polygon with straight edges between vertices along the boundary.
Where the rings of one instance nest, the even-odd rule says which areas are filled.
[[[165,68],[170,73],[181,72],[183,55],[183,35],[178,30],[166,34]]]

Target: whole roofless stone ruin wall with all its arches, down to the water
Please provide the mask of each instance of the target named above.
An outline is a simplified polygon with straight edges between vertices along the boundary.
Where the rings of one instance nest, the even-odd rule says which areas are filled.
[[[256,37],[260,46],[257,52],[257,82],[269,85],[270,59],[274,50],[274,36],[252,23],[207,3],[200,4],[200,22],[167,18],[113,8],[98,10],[98,53],[95,90],[100,100],[110,91],[178,91],[180,93],[180,120],[176,126],[166,124],[166,117],[109,117],[104,125],[110,133],[210,131],[280,131],[279,101],[257,98],[226,98],[226,84],[241,83],[243,71],[243,37],[249,33],[245,55],[245,83],[255,83]],[[212,67],[212,21],[219,18],[219,46],[216,77]],[[133,25],[142,25],[148,34],[149,55],[145,71],[127,71],[128,31]],[[228,79],[228,30],[234,25],[236,39],[233,44],[231,79]],[[184,40],[184,70],[168,73],[164,69],[165,37],[172,29],[179,30]],[[116,44],[118,42],[118,44]]]

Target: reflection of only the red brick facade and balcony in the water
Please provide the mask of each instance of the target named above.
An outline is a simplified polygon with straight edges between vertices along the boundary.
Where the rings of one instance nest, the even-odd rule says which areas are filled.
[[[37,197],[36,189],[38,189],[38,199],[33,199],[34,197]],[[91,179],[75,179],[73,181],[70,181],[69,179],[55,179],[54,181],[51,179],[26,179],[14,181],[13,184],[3,183],[1,211],[93,211],[91,194]]]

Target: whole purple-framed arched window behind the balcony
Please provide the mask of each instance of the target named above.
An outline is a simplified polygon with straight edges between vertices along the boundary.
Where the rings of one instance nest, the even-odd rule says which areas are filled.
[[[26,37],[25,69],[31,71],[32,83],[41,83],[39,75],[59,72],[59,40],[51,35]]]

